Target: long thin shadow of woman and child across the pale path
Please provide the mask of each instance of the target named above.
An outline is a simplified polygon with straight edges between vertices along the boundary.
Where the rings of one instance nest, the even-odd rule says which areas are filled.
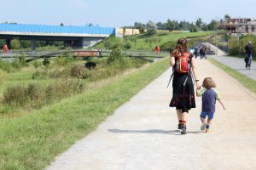
[[[150,130],[120,130],[120,129],[108,129],[111,133],[165,133],[180,135],[180,130],[159,130],[159,129],[150,129]],[[187,133],[199,134],[203,133],[202,131],[187,131]]]

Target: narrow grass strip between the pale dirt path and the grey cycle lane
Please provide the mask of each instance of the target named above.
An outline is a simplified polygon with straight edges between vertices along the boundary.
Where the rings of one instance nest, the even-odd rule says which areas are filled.
[[[238,71],[234,71],[227,65],[223,65],[215,59],[210,59],[212,64],[217,65],[219,68],[227,72],[231,77],[234,77],[238,82],[241,82],[242,86],[256,94],[256,81],[252,78],[246,77]]]

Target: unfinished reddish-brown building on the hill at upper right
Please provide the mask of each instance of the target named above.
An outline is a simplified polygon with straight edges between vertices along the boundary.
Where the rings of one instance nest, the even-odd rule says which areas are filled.
[[[230,19],[226,21],[220,21],[218,23],[218,29],[224,29],[230,34],[256,35],[255,27],[256,27],[256,20],[247,19],[247,18]]]

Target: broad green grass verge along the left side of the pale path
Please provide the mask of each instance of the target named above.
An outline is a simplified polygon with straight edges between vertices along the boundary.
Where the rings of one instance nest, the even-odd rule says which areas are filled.
[[[3,118],[0,169],[43,169],[168,67],[162,59],[42,110]]]

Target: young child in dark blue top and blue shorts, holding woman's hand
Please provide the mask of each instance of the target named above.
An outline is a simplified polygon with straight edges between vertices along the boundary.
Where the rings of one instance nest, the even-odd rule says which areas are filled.
[[[206,77],[202,83],[202,87],[196,90],[196,96],[202,97],[202,108],[201,108],[201,131],[209,132],[212,119],[215,112],[216,99],[222,105],[225,110],[225,106],[220,98],[218,92],[213,89],[216,88],[216,83],[213,82],[211,77]],[[206,121],[207,118],[207,121]]]

